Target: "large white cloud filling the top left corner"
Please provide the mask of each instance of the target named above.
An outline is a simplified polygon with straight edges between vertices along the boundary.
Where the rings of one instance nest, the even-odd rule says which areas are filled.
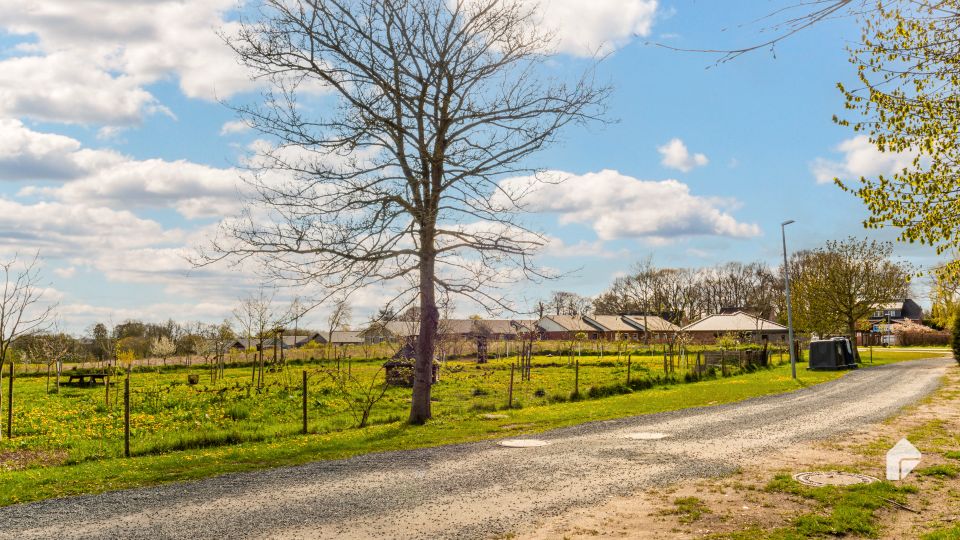
[[[136,123],[162,111],[144,89],[174,78],[212,100],[253,88],[217,35],[234,0],[0,0],[0,29],[32,36],[0,61],[0,114],[68,123]]]

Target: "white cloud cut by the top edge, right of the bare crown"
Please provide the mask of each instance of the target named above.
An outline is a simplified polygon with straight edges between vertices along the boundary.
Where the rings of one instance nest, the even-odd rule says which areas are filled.
[[[542,25],[556,33],[559,52],[575,56],[607,54],[634,36],[647,36],[657,0],[528,0],[542,12]]]

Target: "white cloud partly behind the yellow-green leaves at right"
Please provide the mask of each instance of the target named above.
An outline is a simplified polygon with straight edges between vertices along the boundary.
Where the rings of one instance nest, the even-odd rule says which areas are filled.
[[[909,152],[881,152],[866,135],[857,135],[837,145],[837,152],[844,154],[842,161],[817,158],[810,164],[810,171],[818,184],[841,180],[856,180],[861,177],[889,175],[913,165],[915,154]]]

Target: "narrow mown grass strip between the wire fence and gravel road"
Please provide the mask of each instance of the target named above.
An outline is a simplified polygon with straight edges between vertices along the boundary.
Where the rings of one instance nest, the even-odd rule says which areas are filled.
[[[895,359],[908,358],[899,355]],[[371,452],[496,439],[521,431],[537,432],[589,421],[719,405],[790,392],[843,375],[842,372],[807,372],[803,367],[801,365],[800,377],[796,381],[790,377],[790,367],[784,365],[730,379],[660,386],[603,399],[514,409],[509,411],[506,419],[485,419],[482,415],[440,418],[420,427],[394,422],[315,435],[267,437],[230,446],[190,448],[132,459],[106,458],[27,468],[3,473],[0,477],[0,505],[194,480]]]

